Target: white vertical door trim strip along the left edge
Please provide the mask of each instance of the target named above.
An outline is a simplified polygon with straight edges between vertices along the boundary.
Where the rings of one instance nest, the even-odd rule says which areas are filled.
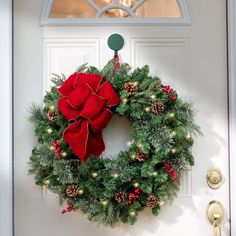
[[[13,1],[0,0],[0,235],[13,235],[13,90],[12,22]]]

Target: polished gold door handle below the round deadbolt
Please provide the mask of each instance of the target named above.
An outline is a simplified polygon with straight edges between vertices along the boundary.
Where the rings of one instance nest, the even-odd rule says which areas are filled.
[[[206,210],[208,221],[214,227],[214,236],[221,236],[220,225],[224,219],[224,208],[219,201],[211,201]]]

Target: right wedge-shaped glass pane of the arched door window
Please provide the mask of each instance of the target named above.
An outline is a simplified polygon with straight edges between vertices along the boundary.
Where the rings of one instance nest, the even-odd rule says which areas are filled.
[[[144,18],[181,17],[176,0],[146,0],[136,10],[136,15]]]

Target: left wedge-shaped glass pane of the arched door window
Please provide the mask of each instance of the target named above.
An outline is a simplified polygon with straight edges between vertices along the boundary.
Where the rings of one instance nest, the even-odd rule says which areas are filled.
[[[51,18],[94,18],[96,10],[86,0],[55,0]]]

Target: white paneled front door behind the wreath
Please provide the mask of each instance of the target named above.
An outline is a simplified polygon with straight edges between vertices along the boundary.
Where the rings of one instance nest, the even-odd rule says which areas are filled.
[[[16,236],[199,236],[213,235],[205,210],[212,200],[224,206],[222,235],[229,236],[229,173],[227,114],[226,3],[189,0],[189,25],[97,25],[39,27],[43,1],[15,0],[15,235]],[[60,214],[55,196],[34,185],[27,176],[28,157],[35,144],[27,121],[27,106],[41,103],[50,86],[51,73],[73,73],[88,62],[102,67],[113,57],[107,38],[119,33],[125,39],[123,62],[133,67],[149,65],[151,74],[171,84],[182,97],[191,98],[204,137],[196,140],[195,165],[186,171],[181,191],[158,217],[149,211],[134,226],[113,229],[90,223],[81,213]],[[113,121],[114,122],[114,121]],[[106,153],[126,148],[129,130],[117,121],[121,137],[107,142]],[[112,122],[105,140],[114,138]],[[218,167],[223,184],[212,190],[207,170]]]

